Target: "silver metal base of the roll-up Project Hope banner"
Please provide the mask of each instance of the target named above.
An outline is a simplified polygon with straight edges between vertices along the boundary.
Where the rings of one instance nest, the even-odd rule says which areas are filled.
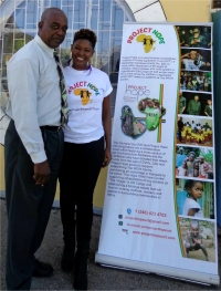
[[[95,262],[104,267],[124,269],[135,272],[155,273],[158,276],[170,277],[172,279],[190,281],[200,284],[220,284],[219,274],[209,274],[203,272],[196,272],[192,270],[183,270],[171,268],[168,266],[134,261],[112,256],[106,256],[96,252]]]

